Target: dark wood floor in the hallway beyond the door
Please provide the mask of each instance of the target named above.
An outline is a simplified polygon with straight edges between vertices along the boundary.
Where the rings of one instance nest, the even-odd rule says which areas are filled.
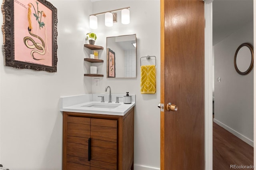
[[[213,170],[253,165],[253,147],[213,122]]]

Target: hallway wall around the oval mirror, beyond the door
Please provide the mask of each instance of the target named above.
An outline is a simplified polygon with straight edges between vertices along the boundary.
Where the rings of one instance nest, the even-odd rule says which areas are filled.
[[[251,145],[253,71],[248,75],[236,73],[234,54],[242,43],[253,45],[253,35],[252,21],[214,46],[214,121]]]

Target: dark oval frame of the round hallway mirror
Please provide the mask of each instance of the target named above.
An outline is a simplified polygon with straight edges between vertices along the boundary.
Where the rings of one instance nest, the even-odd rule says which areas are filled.
[[[240,71],[237,67],[237,63],[236,63],[236,57],[237,57],[237,54],[238,54],[238,51],[240,50],[240,48],[242,47],[248,47],[251,51],[251,63],[250,63],[250,66],[248,67],[248,69],[244,72]],[[252,68],[253,68],[253,47],[250,43],[242,43],[241,45],[239,45],[239,47],[236,49],[236,53],[235,53],[235,57],[234,57],[234,66],[235,66],[235,69],[236,69],[236,72],[240,75],[247,75],[248,73],[250,73],[250,71],[252,71]]]

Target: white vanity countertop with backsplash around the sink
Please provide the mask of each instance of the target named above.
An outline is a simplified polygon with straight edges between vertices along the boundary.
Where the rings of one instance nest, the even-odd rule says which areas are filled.
[[[104,103],[100,102],[104,96]],[[112,103],[108,103],[108,94],[86,94],[68,97],[60,97],[60,111],[78,112],[78,113],[93,113],[103,115],[118,115],[124,116],[132,107],[135,106],[135,95],[132,96],[131,104],[124,104],[123,98],[119,98],[120,103],[116,102],[116,97],[124,95],[112,94]],[[99,108],[99,107],[84,107],[84,105],[118,105],[116,108]]]

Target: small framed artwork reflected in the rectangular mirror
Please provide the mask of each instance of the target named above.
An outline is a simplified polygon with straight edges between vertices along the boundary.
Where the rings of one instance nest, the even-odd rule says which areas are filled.
[[[110,48],[107,49],[107,74],[108,77],[116,77],[115,52]]]

